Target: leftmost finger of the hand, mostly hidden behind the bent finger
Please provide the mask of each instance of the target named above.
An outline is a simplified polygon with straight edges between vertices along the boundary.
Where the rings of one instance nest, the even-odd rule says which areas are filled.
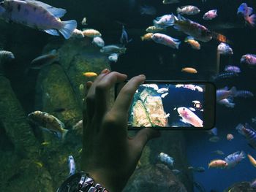
[[[94,116],[94,100],[95,100],[95,87],[97,83],[102,80],[105,75],[110,73],[110,70],[104,69],[101,74],[94,80],[94,82],[90,85],[89,83],[89,91],[87,93],[86,99],[84,100],[85,104],[83,104],[83,117],[87,119],[92,119]]]

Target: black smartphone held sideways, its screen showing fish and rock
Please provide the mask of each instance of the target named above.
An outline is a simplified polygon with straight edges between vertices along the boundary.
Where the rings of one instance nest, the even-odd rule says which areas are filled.
[[[116,96],[125,83],[116,86]],[[212,82],[146,81],[133,97],[128,128],[211,129],[215,113],[216,87]]]

